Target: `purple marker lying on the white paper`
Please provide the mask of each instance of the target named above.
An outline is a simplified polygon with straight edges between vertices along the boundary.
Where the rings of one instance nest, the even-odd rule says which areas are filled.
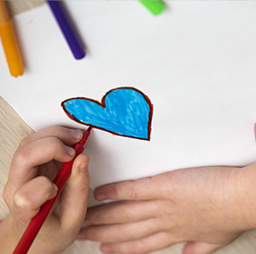
[[[49,7],[54,13],[58,25],[63,32],[66,41],[71,49],[75,59],[82,59],[85,56],[85,50],[81,40],[79,39],[75,28],[68,18],[68,15],[61,1],[47,1]]]

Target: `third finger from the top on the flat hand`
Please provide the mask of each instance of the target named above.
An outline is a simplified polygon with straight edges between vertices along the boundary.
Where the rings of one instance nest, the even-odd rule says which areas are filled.
[[[77,239],[101,242],[134,241],[162,230],[163,225],[153,218],[137,223],[88,226],[80,230]]]

